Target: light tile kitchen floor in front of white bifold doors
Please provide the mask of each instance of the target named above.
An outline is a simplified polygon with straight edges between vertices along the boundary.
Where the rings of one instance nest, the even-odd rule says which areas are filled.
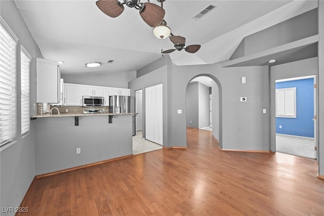
[[[163,149],[163,146],[142,138],[142,132],[133,136],[133,155]]]

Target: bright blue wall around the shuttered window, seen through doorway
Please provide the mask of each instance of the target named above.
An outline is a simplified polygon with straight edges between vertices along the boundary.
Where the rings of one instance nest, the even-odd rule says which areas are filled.
[[[275,89],[293,87],[296,87],[297,118],[275,118],[276,133],[314,138],[314,79],[275,83]]]

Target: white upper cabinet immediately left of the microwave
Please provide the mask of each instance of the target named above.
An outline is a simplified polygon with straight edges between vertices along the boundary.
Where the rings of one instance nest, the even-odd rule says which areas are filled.
[[[77,84],[64,83],[65,106],[82,106],[83,88]]]

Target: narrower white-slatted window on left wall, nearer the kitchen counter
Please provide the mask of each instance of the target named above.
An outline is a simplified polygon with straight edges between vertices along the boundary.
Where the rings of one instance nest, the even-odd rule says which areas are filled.
[[[21,46],[21,135],[29,132],[29,63],[31,56]]]

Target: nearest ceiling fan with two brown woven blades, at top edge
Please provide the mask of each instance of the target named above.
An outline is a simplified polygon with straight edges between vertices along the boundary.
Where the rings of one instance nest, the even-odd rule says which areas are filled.
[[[124,11],[124,5],[130,8],[136,8],[140,11],[140,15],[144,22],[151,27],[158,26],[164,19],[166,11],[158,5],[150,3],[141,3],[141,0],[99,0],[96,2],[97,7],[109,17],[115,18]],[[159,1],[159,0],[157,0]]]

